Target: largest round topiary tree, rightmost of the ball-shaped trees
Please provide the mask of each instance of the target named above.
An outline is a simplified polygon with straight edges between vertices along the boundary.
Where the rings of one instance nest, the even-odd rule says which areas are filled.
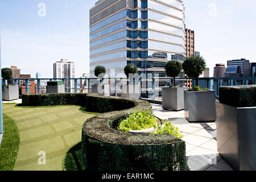
[[[203,73],[205,67],[205,60],[201,56],[187,57],[183,62],[184,73],[196,80],[196,86],[199,86],[198,77]]]

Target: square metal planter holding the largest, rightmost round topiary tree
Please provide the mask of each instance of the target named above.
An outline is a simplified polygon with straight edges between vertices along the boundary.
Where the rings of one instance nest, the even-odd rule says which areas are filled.
[[[215,90],[188,92],[184,90],[185,118],[189,122],[216,121]]]

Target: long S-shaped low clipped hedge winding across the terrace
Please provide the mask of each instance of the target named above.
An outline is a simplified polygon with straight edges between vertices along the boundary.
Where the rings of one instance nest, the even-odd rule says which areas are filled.
[[[82,159],[86,169],[100,171],[188,170],[185,142],[170,134],[134,135],[117,130],[134,110],[151,108],[147,101],[97,94],[24,94],[23,106],[81,105],[101,112],[82,127]]]

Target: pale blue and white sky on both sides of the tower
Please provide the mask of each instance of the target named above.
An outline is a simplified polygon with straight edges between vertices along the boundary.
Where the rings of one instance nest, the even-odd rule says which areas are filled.
[[[0,0],[2,68],[53,77],[53,63],[76,63],[75,77],[89,73],[89,9],[96,0]],[[45,6],[44,6],[45,5]],[[186,27],[210,76],[217,63],[256,62],[255,0],[185,0]],[[45,11],[43,11],[45,10]]]

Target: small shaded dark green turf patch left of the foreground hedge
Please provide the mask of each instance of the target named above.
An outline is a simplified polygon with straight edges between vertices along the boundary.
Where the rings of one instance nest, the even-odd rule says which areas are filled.
[[[84,164],[82,163],[81,142],[75,144],[69,149],[63,159],[64,171],[85,171]]]

